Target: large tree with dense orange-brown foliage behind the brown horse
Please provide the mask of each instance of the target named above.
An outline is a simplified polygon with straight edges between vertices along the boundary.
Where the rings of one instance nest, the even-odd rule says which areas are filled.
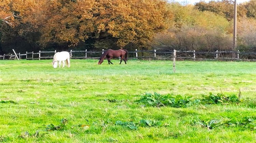
[[[51,0],[46,4],[41,43],[63,48],[89,39],[143,47],[168,27],[171,18],[161,0]]]

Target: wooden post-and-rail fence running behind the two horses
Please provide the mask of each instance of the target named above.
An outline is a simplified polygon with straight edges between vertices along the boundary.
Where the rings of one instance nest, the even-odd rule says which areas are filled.
[[[104,53],[104,49],[102,51],[72,51],[70,50],[70,58],[71,59],[99,59],[99,57],[94,57],[92,54],[98,53],[100,55],[101,53]],[[41,59],[53,59],[55,51],[39,51],[39,52],[26,52],[26,54],[20,54],[17,53],[17,56],[19,59],[27,59],[27,60],[41,60]],[[74,53],[79,53],[80,56],[74,56]],[[236,57],[230,56],[232,53],[235,53]],[[209,55],[210,58],[197,58],[197,55]],[[81,56],[82,55],[82,56]],[[185,57],[183,56],[185,55]],[[225,57],[223,55],[228,55],[229,57]],[[206,60],[212,60],[212,59],[227,59],[227,60],[238,60],[240,59],[241,55],[254,55],[256,57],[255,52],[240,52],[238,51],[215,51],[215,52],[200,52],[200,51],[176,51],[176,58],[177,59],[206,59]],[[135,51],[129,51],[129,57],[135,58],[135,59],[172,59],[173,57],[173,51],[158,51],[158,50],[137,50]],[[16,59],[15,54],[4,54],[0,55],[1,60],[10,60],[10,59]],[[242,58],[243,59],[243,58]]]

